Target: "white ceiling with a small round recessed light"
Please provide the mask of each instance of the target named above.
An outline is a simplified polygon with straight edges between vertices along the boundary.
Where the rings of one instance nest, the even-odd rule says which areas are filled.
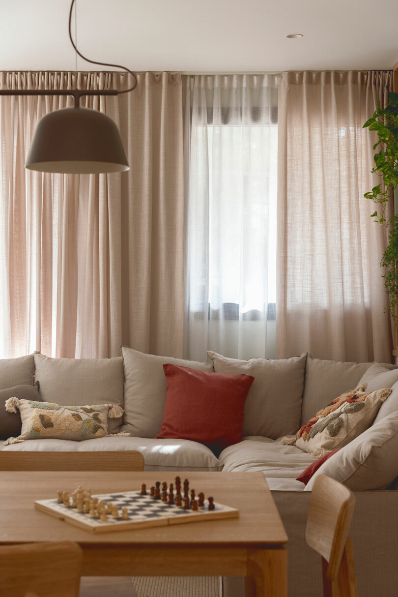
[[[391,69],[398,0],[77,0],[78,47],[132,70]],[[0,70],[74,70],[70,0],[0,0]],[[286,39],[303,33],[302,39]],[[107,70],[78,59],[78,70]]]

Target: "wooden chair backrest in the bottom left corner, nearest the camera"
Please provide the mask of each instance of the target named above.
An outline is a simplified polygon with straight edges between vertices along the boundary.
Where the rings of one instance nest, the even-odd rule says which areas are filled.
[[[1,594],[78,597],[82,550],[77,543],[0,547]]]

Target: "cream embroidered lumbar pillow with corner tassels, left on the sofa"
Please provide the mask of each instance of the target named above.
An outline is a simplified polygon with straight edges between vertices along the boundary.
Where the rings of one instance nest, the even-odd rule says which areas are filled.
[[[84,407],[62,407],[53,402],[18,400],[5,402],[8,413],[20,411],[22,429],[17,438],[8,438],[4,445],[19,444],[26,439],[103,438],[109,435],[130,435],[127,432],[108,433],[108,417],[121,417],[124,410],[118,404],[96,404]]]

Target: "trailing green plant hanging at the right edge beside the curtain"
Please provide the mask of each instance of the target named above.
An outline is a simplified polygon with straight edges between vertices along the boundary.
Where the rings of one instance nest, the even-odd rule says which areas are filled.
[[[385,217],[385,209],[388,200],[394,197],[398,186],[398,93],[390,93],[387,106],[383,109],[380,102],[377,105],[372,118],[365,122],[363,127],[376,131],[379,140],[374,144],[373,149],[379,148],[375,153],[375,166],[372,173],[382,178],[382,183],[374,186],[365,193],[365,199],[371,199],[379,207],[371,214],[374,221],[390,227],[388,232],[388,245],[382,256],[380,266],[385,268],[384,287],[388,294],[388,310],[391,313],[394,324],[398,326],[397,302],[398,302],[398,214]]]

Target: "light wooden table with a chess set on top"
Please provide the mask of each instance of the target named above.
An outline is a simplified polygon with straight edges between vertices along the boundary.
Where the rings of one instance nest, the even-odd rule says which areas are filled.
[[[98,453],[98,457],[101,455]],[[35,510],[34,501],[72,491],[132,491],[185,476],[196,492],[239,509],[239,518],[97,536]],[[286,597],[285,529],[263,473],[2,472],[0,544],[76,541],[84,576],[245,576],[246,596]]]

